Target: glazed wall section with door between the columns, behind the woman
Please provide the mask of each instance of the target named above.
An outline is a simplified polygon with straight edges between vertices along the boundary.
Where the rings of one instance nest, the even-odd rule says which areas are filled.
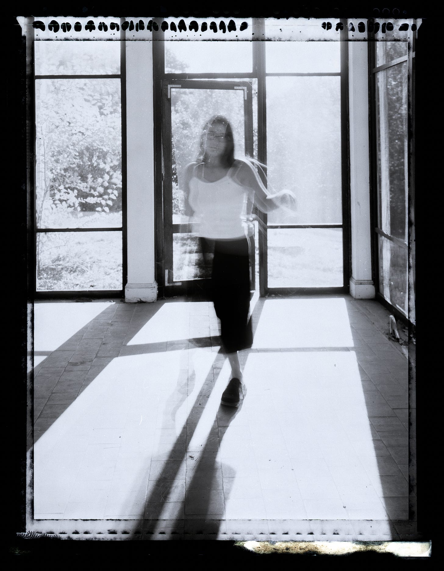
[[[255,212],[251,289],[263,294],[345,291],[343,43],[182,44],[159,42],[155,51],[165,62],[158,115],[164,153],[165,295],[205,286],[199,242],[179,230],[181,175],[198,155],[202,128],[214,115],[226,116],[232,124],[236,157],[253,157],[267,165],[270,192],[287,189],[297,197],[294,212],[277,210],[268,219]]]

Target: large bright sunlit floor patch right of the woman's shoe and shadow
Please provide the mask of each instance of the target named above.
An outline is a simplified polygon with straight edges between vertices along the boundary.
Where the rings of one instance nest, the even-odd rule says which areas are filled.
[[[308,519],[387,518],[353,351],[251,353],[244,379],[253,444],[261,437],[259,454],[288,453],[287,465],[276,464],[279,481],[295,476],[287,517],[293,509]]]

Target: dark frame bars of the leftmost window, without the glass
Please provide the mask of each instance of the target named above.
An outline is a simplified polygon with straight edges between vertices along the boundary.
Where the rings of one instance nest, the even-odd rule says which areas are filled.
[[[125,293],[125,284],[127,281],[127,208],[126,208],[126,54],[125,54],[125,32],[121,31],[120,39],[120,73],[119,74],[57,74],[57,75],[36,75],[35,74],[35,42],[36,41],[51,41],[51,40],[35,40],[31,39],[31,77],[29,77],[28,85],[29,93],[32,97],[32,110],[33,116],[30,122],[30,135],[31,135],[31,200],[30,208],[31,220],[33,222],[33,274],[31,278],[31,287],[33,297],[35,300],[44,299],[97,299],[97,298],[121,298]],[[54,40],[55,41],[55,40]],[[88,41],[88,40],[82,40]],[[114,41],[114,40],[111,40]],[[122,149],[122,226],[115,228],[37,228],[37,154],[36,154],[36,132],[35,132],[35,86],[36,81],[41,79],[119,79],[121,88],[121,149]],[[45,290],[39,291],[37,289],[37,234],[45,234],[50,232],[121,232],[122,233],[122,287],[120,289],[94,289],[93,291],[79,289],[79,290]]]

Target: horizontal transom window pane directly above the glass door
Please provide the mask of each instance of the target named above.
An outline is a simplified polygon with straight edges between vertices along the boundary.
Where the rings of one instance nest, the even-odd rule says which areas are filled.
[[[250,73],[252,43],[165,42],[165,73]]]

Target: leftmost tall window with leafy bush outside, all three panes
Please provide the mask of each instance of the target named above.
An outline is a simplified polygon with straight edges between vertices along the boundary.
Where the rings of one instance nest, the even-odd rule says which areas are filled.
[[[35,42],[35,290],[122,291],[120,42]]]

